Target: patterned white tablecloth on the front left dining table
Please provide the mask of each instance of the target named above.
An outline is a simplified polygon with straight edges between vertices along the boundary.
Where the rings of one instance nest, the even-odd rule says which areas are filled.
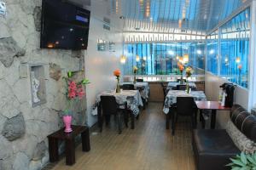
[[[123,90],[121,93],[115,93],[114,90],[102,92],[96,97],[96,103],[100,103],[102,95],[114,96],[116,102],[121,105],[127,102],[127,107],[132,113],[137,116],[139,114],[139,106],[143,106],[143,100],[138,90]]]

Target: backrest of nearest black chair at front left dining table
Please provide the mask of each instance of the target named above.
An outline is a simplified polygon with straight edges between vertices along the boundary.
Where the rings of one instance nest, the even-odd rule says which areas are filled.
[[[101,96],[102,114],[113,115],[117,112],[117,103],[114,96]]]

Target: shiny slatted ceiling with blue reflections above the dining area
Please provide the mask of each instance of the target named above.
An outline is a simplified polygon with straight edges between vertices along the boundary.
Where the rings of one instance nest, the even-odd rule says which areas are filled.
[[[125,31],[159,28],[209,31],[251,0],[109,0]],[[169,29],[170,30],[170,29]]]

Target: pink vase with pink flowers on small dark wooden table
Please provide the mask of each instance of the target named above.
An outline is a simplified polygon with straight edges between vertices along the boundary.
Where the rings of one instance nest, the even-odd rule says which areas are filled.
[[[88,79],[83,79],[79,82],[75,82],[73,80],[73,72],[68,71],[67,77],[63,77],[63,79],[66,81],[67,84],[67,92],[66,92],[66,98],[67,98],[67,105],[65,111],[62,112],[62,119],[65,125],[65,133],[71,133],[71,122],[72,122],[72,115],[73,112],[71,111],[71,106],[73,105],[73,102],[75,100],[82,99],[85,95],[84,92],[84,86],[86,84],[89,84]]]

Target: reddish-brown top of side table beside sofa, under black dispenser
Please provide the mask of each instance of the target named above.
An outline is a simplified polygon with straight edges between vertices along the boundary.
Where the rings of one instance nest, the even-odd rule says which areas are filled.
[[[225,110],[229,111],[230,107],[221,106],[218,101],[195,101],[198,109],[202,110]]]

